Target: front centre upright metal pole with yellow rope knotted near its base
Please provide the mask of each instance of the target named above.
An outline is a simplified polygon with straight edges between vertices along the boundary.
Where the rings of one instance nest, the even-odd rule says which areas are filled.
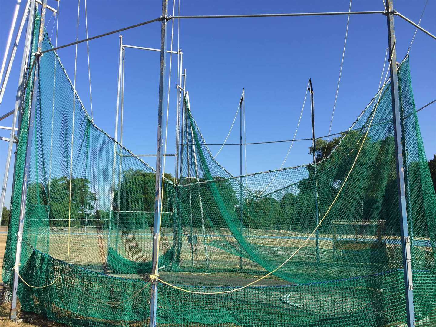
[[[162,26],[160,31],[160,76],[159,76],[159,105],[157,112],[157,146],[156,146],[156,181],[154,185],[154,222],[153,222],[153,275],[159,273],[159,235],[160,235],[160,201],[162,191],[162,108],[164,105],[165,66],[167,50],[167,13],[168,0],[162,0]],[[157,310],[157,279],[153,278],[150,288],[150,327],[156,326]]]

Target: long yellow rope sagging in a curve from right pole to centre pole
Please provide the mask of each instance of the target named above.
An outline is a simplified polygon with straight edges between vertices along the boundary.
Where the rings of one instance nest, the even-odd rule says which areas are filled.
[[[394,47],[393,47],[393,48],[395,48],[395,43],[394,43]],[[392,53],[393,53],[393,51],[392,51]],[[392,56],[391,56],[391,60],[392,60]],[[387,73],[386,73],[386,76],[387,76]],[[386,78],[385,78],[385,81],[386,81]],[[385,83],[383,84],[383,86],[384,86],[384,85],[385,85]],[[361,153],[361,150],[362,150],[363,145],[364,145],[364,143],[365,143],[366,137],[368,136],[369,129],[370,129],[371,124],[372,124],[372,121],[373,121],[373,119],[374,119],[375,112],[377,111],[378,103],[380,102],[380,99],[381,99],[381,92],[383,91],[383,89],[384,89],[384,87],[382,87],[382,88],[380,89],[380,91],[377,92],[377,94],[380,93],[380,95],[379,95],[379,97],[378,97],[378,99],[377,99],[377,103],[376,103],[376,105],[375,105],[374,112],[373,112],[372,117],[371,117],[371,120],[370,120],[370,122],[369,122],[368,129],[367,129],[367,131],[366,131],[366,133],[365,133],[365,135],[364,135],[364,138],[363,138],[362,143],[361,143],[361,145],[360,145],[359,151],[358,151],[356,157],[354,158],[354,162],[353,162],[353,164],[351,165],[351,169],[350,169],[350,171],[348,171],[347,177],[345,177],[344,182],[343,182],[342,185],[341,185],[341,188],[339,189],[339,191],[338,191],[337,194],[336,194],[336,197],[334,198],[333,202],[330,204],[330,207],[327,209],[326,213],[324,214],[324,217],[320,220],[320,222],[318,223],[317,227],[313,230],[313,232],[310,233],[310,235],[306,238],[306,240],[303,242],[303,244],[301,244],[301,245],[298,247],[298,249],[296,249],[295,252],[294,252],[294,253],[293,253],[293,254],[292,254],[288,259],[286,259],[286,260],[285,260],[285,261],[284,261],[280,266],[278,266],[276,269],[272,270],[271,272],[268,272],[266,275],[264,275],[264,276],[262,276],[262,277],[260,277],[260,278],[258,278],[258,279],[256,279],[256,280],[254,280],[253,282],[248,283],[248,284],[245,285],[245,286],[241,286],[241,287],[238,287],[238,288],[235,288],[235,289],[232,289],[232,290],[220,291],[220,292],[196,292],[196,291],[186,290],[186,289],[184,289],[184,288],[181,288],[181,287],[178,287],[178,286],[172,285],[172,284],[170,284],[170,283],[168,283],[168,282],[165,282],[164,280],[162,280],[162,279],[159,278],[159,274],[150,275],[150,279],[154,279],[154,278],[155,278],[155,279],[157,279],[158,281],[160,281],[160,283],[164,283],[164,284],[166,284],[166,285],[168,285],[168,286],[170,286],[170,287],[172,287],[172,288],[175,288],[176,290],[180,290],[180,291],[183,291],[183,292],[186,292],[186,293],[205,294],[205,295],[208,295],[208,294],[224,294],[224,293],[232,293],[232,292],[235,292],[235,291],[238,291],[238,290],[243,290],[243,289],[245,289],[246,287],[249,287],[249,286],[251,286],[251,285],[253,285],[253,284],[255,284],[255,283],[261,281],[262,279],[268,277],[269,275],[273,274],[274,272],[276,272],[277,270],[279,270],[280,268],[282,268],[282,267],[286,264],[286,262],[288,262],[290,259],[292,259],[293,256],[296,255],[296,253],[297,253],[298,251],[300,251],[300,249],[301,249],[301,248],[302,248],[302,247],[303,247],[303,246],[304,246],[304,245],[309,241],[309,239],[310,239],[310,238],[313,236],[313,234],[317,231],[317,229],[320,227],[321,223],[324,221],[324,218],[326,218],[327,214],[330,212],[330,209],[333,207],[333,204],[336,202],[337,198],[339,197],[339,194],[341,194],[341,191],[342,191],[342,189],[344,188],[344,185],[345,185],[345,183],[347,182],[348,177],[350,177],[351,171],[354,169],[354,165],[356,164],[356,161],[357,161],[357,159],[358,159],[358,157],[359,157],[359,155],[360,155],[360,153]],[[158,237],[159,237],[159,235],[158,235]]]

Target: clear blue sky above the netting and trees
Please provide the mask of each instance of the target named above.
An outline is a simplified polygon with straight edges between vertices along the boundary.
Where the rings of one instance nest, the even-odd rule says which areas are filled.
[[[24,2],[24,0],[22,1]],[[382,0],[354,0],[351,10],[383,10]],[[418,21],[425,0],[395,0],[395,9]],[[169,11],[172,12],[172,1]],[[177,3],[177,1],[176,1]],[[57,7],[57,2],[48,0]],[[80,3],[79,39],[85,38],[85,1]],[[115,30],[160,16],[161,1],[88,0],[89,36]],[[0,12],[0,50],[6,46],[14,0],[2,1]],[[181,14],[255,14],[286,12],[347,11],[349,1],[200,1],[181,0]],[[20,15],[24,5],[21,6]],[[177,8],[176,8],[177,13]],[[429,1],[421,25],[436,33],[436,3]],[[19,16],[20,17],[20,16]],[[46,22],[50,20],[48,11]],[[77,0],[61,0],[58,45],[76,37]],[[51,34],[55,17],[48,22]],[[174,45],[177,49],[177,21]],[[168,25],[169,37],[171,24]],[[228,133],[245,88],[246,141],[292,139],[300,115],[307,78],[313,81],[315,95],[315,130],[317,136],[328,133],[341,65],[347,16],[236,18],[181,20],[180,48],[187,69],[187,89],[191,110],[208,143],[222,143]],[[350,17],[347,48],[332,133],[347,129],[375,95],[387,47],[385,16],[354,15]],[[54,28],[52,42],[55,38]],[[415,28],[395,18],[397,59],[406,54]],[[123,32],[124,43],[160,47],[160,23]],[[170,38],[168,39],[170,47]],[[118,34],[89,42],[92,105],[94,122],[113,136],[115,126]],[[22,44],[17,52],[10,82],[0,113],[13,109],[21,61]],[[75,47],[58,51],[70,78],[74,75]],[[410,51],[412,86],[416,107],[435,99],[436,41],[418,31]],[[168,57],[169,59],[169,57]],[[167,61],[169,65],[169,60]],[[170,118],[167,152],[174,153],[175,85],[177,56],[173,56],[170,82]],[[168,66],[169,67],[169,66]],[[168,78],[167,69],[167,78]],[[155,153],[159,53],[126,49],[124,136],[123,144],[133,153]],[[78,45],[78,94],[90,110],[86,44]],[[427,157],[436,153],[436,104],[418,114]],[[11,119],[0,125],[10,126]],[[5,130],[1,135],[7,136]],[[310,102],[306,103],[297,138],[311,136]],[[239,121],[235,123],[229,143],[238,143]],[[290,143],[247,146],[247,172],[279,168]],[[310,142],[296,142],[285,167],[311,161]],[[215,154],[219,146],[211,146]],[[0,143],[0,178],[3,177],[7,143]],[[155,166],[154,158],[146,158]],[[110,160],[110,158],[108,158]],[[239,174],[238,146],[225,146],[217,157],[232,174]],[[12,167],[11,167],[12,170]],[[174,160],[167,161],[168,172],[174,172]],[[245,170],[244,170],[245,172]],[[10,180],[11,176],[10,174]],[[10,184],[5,204],[9,206]]]

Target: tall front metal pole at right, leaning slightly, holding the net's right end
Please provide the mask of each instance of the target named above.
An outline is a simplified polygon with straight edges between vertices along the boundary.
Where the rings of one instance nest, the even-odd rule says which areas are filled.
[[[397,170],[397,188],[399,199],[399,214],[400,214],[400,229],[401,229],[401,246],[404,271],[404,290],[405,304],[407,313],[407,326],[415,326],[415,310],[413,307],[413,282],[412,282],[412,258],[410,255],[410,237],[407,224],[407,208],[404,183],[404,162],[402,149],[402,130],[400,116],[400,102],[398,91],[398,75],[397,75],[397,58],[395,51],[395,31],[394,31],[394,7],[392,0],[386,0],[386,8],[388,8],[388,42],[389,55],[391,62],[389,69],[391,72],[391,93],[392,93],[392,121],[394,125],[394,142],[396,154],[396,170]]]

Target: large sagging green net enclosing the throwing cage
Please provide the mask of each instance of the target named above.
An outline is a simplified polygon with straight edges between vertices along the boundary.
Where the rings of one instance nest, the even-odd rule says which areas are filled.
[[[36,17],[34,34],[38,26]],[[51,47],[45,35],[43,50]],[[49,286],[35,288],[20,280],[22,308],[75,326],[148,325],[155,172],[92,123],[53,51],[39,61],[37,83],[29,78],[23,106],[3,281],[12,283],[23,140],[33,104],[20,276],[31,286]],[[431,325],[436,313],[436,196],[415,112],[409,58],[398,73],[415,315]],[[159,284],[158,325],[404,322],[390,84],[316,170],[308,164],[242,177],[215,161],[188,98],[183,100],[181,177],[168,174],[164,179],[159,257],[160,279],[183,290]],[[242,290],[184,291],[234,290],[294,253],[282,268]]]

